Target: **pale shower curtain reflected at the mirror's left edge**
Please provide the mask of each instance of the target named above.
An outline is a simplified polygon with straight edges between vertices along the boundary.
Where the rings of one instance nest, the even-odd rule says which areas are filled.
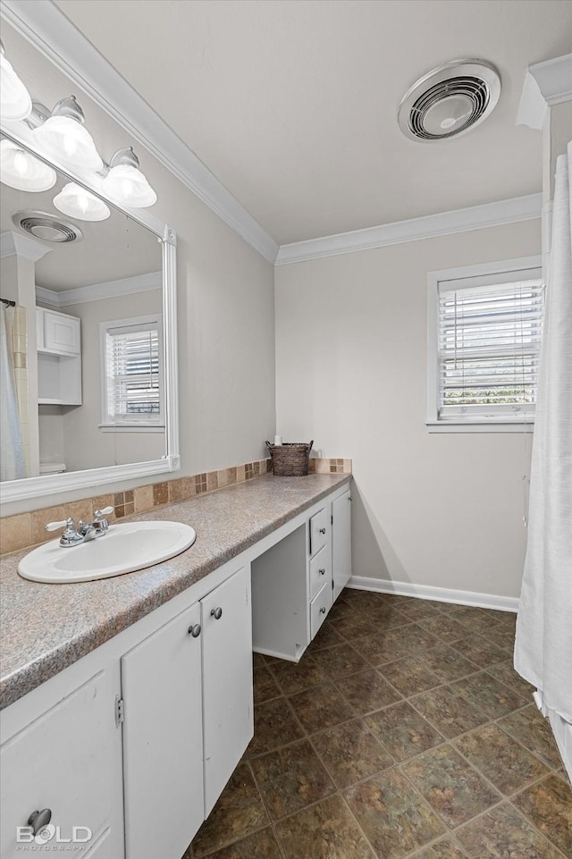
[[[26,476],[12,351],[13,307],[0,305],[0,480]]]

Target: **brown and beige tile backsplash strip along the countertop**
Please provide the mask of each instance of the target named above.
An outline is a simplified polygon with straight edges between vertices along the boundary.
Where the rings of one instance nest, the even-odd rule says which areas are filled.
[[[315,474],[351,474],[351,459],[316,459],[309,462],[310,473]],[[16,516],[0,519],[0,554],[16,552],[46,543],[54,539],[54,534],[46,532],[46,522],[55,522],[64,518],[84,519],[89,521],[94,510],[113,506],[114,514],[110,519],[121,519],[132,513],[145,513],[163,504],[182,501],[194,495],[214,492],[224,486],[240,484],[253,477],[272,473],[270,459],[256,459],[240,466],[220,468],[218,471],[206,471],[189,477],[175,477],[158,484],[138,486],[124,492],[106,493],[81,501],[70,501],[55,507],[45,507]]]

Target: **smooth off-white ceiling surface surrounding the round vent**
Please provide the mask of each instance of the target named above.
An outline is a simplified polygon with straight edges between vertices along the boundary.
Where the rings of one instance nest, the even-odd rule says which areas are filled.
[[[569,52],[568,0],[55,0],[279,244],[532,194],[542,140],[517,127],[526,68]],[[466,136],[397,124],[421,74],[494,63]]]

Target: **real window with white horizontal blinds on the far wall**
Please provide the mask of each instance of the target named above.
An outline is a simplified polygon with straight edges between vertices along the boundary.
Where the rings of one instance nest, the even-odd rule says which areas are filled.
[[[541,274],[527,257],[429,275],[430,430],[534,421]]]

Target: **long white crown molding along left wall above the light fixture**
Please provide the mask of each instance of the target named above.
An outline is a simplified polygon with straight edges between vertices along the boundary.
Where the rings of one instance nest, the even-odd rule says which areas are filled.
[[[0,15],[146,147],[240,237],[273,263],[278,244],[115,71],[52,0],[2,0]]]

